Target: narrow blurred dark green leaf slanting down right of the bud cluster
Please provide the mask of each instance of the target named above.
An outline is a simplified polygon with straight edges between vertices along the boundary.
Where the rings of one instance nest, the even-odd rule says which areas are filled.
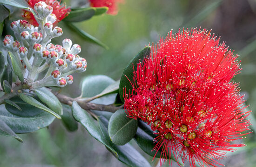
[[[87,32],[84,32],[83,30],[81,30],[80,28],[78,28],[77,26],[75,26],[72,23],[68,23],[65,22],[66,25],[73,30],[73,32],[77,33],[81,38],[83,38],[84,40],[91,42],[93,44],[96,45],[100,45],[101,47],[108,49],[108,46],[105,45],[104,43],[102,43],[99,39],[96,39],[95,37],[91,36],[90,34],[88,34]]]

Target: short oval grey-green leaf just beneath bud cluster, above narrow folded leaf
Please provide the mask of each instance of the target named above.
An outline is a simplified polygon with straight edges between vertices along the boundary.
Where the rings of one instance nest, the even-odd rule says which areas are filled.
[[[47,106],[53,110],[58,115],[62,115],[63,109],[61,102],[59,99],[47,88],[39,88],[34,90],[38,98],[43,102],[46,103]]]

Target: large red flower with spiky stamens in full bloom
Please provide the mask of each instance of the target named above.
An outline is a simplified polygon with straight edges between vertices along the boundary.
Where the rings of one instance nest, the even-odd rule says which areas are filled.
[[[170,32],[137,64],[125,109],[157,130],[154,149],[164,159],[173,152],[192,167],[216,166],[225,151],[245,146],[232,142],[250,133],[250,111],[231,80],[240,64],[219,41],[207,30]]]

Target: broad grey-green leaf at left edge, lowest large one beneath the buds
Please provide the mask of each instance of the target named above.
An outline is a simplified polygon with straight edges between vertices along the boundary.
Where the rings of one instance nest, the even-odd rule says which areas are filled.
[[[26,110],[22,112],[26,112]],[[54,118],[42,110],[40,114],[32,117],[15,116],[7,111],[4,104],[0,105],[0,120],[5,122],[15,133],[29,133],[47,127]]]

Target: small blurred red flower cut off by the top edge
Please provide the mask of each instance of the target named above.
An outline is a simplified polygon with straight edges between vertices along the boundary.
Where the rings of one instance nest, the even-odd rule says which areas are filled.
[[[123,0],[89,0],[92,7],[108,7],[108,14],[116,15],[118,13],[117,3],[123,2]]]

